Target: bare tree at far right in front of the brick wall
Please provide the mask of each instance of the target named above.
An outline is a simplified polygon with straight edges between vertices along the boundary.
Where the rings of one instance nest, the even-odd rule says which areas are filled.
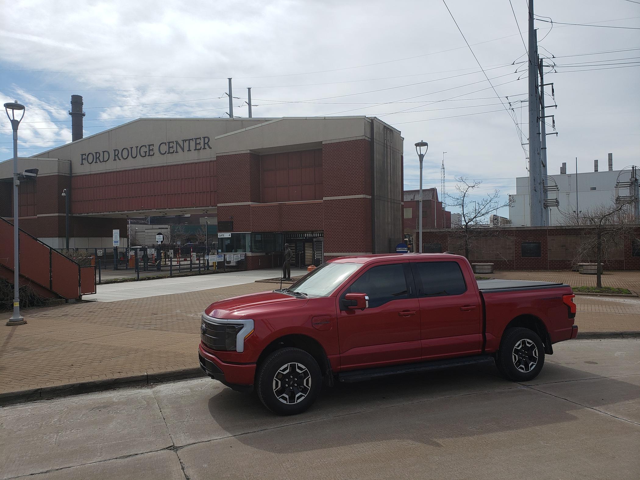
[[[637,220],[630,211],[630,204],[611,202],[598,205],[580,212],[579,219],[569,216],[566,223],[584,227],[573,262],[595,263],[596,285],[602,288],[602,268],[607,264],[611,251],[624,246],[627,239],[636,239],[634,228]]]

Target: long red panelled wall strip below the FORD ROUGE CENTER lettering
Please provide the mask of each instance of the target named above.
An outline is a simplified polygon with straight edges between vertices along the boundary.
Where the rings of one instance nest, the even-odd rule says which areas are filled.
[[[215,206],[216,173],[216,162],[209,160],[75,175],[72,178],[71,212]]]

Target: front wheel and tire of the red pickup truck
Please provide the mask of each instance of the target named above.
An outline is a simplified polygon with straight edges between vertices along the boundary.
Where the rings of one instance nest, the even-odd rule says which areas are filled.
[[[322,372],[316,359],[306,351],[287,347],[264,359],[256,383],[258,398],[271,412],[296,415],[316,401],[322,387]]]

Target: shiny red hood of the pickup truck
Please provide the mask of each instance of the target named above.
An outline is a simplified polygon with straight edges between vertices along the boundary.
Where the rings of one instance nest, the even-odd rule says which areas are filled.
[[[254,318],[283,308],[302,307],[307,302],[307,298],[295,298],[275,291],[260,292],[216,301],[205,308],[204,312],[215,318]]]

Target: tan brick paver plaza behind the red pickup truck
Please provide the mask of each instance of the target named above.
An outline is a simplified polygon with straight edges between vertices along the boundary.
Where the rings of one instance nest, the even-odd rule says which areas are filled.
[[[586,284],[581,277],[593,279],[569,272],[546,273],[492,276],[573,285]],[[609,275],[603,277],[605,284],[640,290],[640,272]],[[213,301],[273,287],[251,283],[26,310],[28,324],[0,326],[0,393],[197,367],[202,310]],[[581,332],[640,330],[638,298],[578,296],[577,305]]]

